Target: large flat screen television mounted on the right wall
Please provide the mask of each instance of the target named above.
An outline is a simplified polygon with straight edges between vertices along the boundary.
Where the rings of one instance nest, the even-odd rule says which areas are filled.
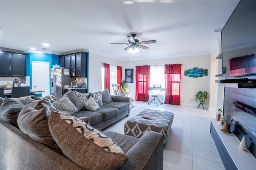
[[[221,31],[222,77],[256,74],[256,1],[241,0]]]

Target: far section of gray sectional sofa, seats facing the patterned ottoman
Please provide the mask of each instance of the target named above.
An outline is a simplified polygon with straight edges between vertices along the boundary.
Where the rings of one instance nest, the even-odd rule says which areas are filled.
[[[78,109],[84,105],[83,103],[81,107],[78,106],[79,99],[86,102],[90,96],[95,98],[96,95],[101,95],[96,99],[98,100],[98,105],[100,105],[99,109],[96,109],[96,111],[89,111],[82,107],[80,111],[72,114],[72,116],[77,118],[89,117],[90,126],[98,130],[102,130],[130,114],[130,98],[123,96],[110,96],[108,89],[101,92],[87,94],[78,93],[77,91],[69,89],[65,94]]]

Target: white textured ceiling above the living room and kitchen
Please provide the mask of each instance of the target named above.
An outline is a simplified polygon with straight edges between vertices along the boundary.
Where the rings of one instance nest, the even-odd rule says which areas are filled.
[[[28,0],[0,1],[0,46],[63,54],[87,49],[121,61],[126,36],[137,34],[145,44],[136,59],[155,59],[209,54],[238,4],[237,0]],[[49,43],[46,50],[41,43]]]

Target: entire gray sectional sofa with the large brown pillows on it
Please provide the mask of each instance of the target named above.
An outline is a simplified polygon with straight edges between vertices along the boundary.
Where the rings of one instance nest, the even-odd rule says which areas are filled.
[[[76,98],[67,96],[70,101]],[[78,109],[74,101],[62,105],[54,96],[30,98],[4,99],[1,105],[0,169],[163,169],[162,134],[148,131],[136,138],[97,130],[129,115],[126,97],[111,96],[110,102],[102,99],[104,105],[96,111]],[[68,115],[57,111],[60,106],[77,110]]]

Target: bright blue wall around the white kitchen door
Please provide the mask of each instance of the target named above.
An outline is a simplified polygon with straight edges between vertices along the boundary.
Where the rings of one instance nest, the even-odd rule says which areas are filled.
[[[26,53],[26,70],[27,70],[27,76],[30,76],[30,87],[32,87],[32,61],[49,62],[50,68],[52,68],[52,65],[59,64],[59,56],[56,54],[46,54],[46,53]],[[51,70],[49,69],[49,75],[50,75],[50,71]],[[51,82],[51,79],[50,79],[50,82]],[[51,83],[49,84],[51,85]]]

